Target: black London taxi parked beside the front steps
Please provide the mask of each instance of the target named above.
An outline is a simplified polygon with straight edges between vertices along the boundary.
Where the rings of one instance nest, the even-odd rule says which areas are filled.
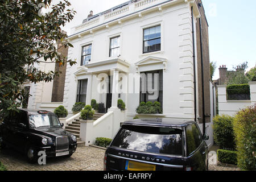
[[[24,152],[31,163],[37,162],[39,151],[45,151],[47,157],[71,156],[76,151],[76,137],[62,127],[50,111],[19,109],[2,122],[1,147]]]

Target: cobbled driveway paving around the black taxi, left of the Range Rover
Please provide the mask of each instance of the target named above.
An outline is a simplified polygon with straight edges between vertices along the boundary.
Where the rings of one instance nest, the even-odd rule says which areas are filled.
[[[10,148],[0,150],[0,160],[9,171],[101,171],[105,150],[95,147],[78,147],[70,157],[50,158],[46,165],[30,164],[26,156]]]

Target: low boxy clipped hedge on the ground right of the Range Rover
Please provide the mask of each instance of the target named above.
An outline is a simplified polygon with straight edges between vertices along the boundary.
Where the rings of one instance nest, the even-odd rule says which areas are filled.
[[[237,151],[217,150],[218,161],[225,164],[237,165]]]

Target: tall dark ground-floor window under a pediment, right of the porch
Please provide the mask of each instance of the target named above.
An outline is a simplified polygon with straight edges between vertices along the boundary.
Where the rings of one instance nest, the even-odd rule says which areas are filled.
[[[141,72],[140,102],[160,102],[163,105],[163,70]]]

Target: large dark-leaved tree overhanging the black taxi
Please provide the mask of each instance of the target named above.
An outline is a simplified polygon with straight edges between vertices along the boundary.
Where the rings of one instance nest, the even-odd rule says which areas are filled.
[[[73,47],[61,26],[71,21],[76,11],[66,0],[52,5],[52,0],[0,0],[0,116],[3,119],[27,98],[25,81],[52,81],[57,72],[43,72],[34,65],[51,60],[59,65],[76,64],[59,55],[55,43]],[[42,7],[51,12],[42,15]],[[31,72],[26,68],[32,67]]]

